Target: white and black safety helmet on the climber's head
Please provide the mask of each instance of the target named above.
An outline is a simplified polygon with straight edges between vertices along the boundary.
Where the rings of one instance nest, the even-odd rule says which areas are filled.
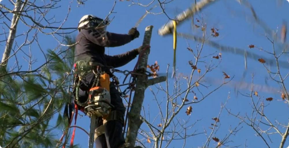
[[[80,31],[83,28],[91,28],[91,27],[97,27],[106,30],[106,26],[108,25],[108,23],[109,23],[108,20],[103,20],[93,15],[85,15],[80,19],[77,28],[78,31]]]

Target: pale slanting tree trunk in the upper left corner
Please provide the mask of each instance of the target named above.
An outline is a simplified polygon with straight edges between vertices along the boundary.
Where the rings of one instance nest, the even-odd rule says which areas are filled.
[[[24,6],[25,4],[23,4],[21,7],[21,0],[17,0],[15,3],[14,14],[13,14],[13,18],[11,20],[11,25],[10,25],[10,31],[9,31],[8,39],[6,42],[5,50],[3,53],[3,57],[1,60],[1,66],[4,66],[4,68],[7,67],[8,58],[9,58],[9,55],[13,46],[15,34],[16,34],[16,28],[17,28],[17,24],[19,20],[17,13],[19,13],[20,10],[23,10]]]

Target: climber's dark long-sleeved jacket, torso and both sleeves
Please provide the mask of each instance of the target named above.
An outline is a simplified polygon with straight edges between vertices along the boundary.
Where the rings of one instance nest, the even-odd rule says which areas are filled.
[[[105,47],[121,46],[131,41],[128,34],[116,34],[96,29],[82,29],[76,37],[74,61],[97,62],[114,68],[123,66],[138,55],[137,49],[119,55],[105,55]]]

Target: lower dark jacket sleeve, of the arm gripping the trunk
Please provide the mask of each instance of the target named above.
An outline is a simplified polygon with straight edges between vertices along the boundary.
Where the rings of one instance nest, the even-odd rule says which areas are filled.
[[[119,55],[105,55],[106,64],[108,66],[112,66],[114,68],[124,66],[129,61],[133,60],[136,55],[138,55],[138,49],[133,49],[131,51],[127,51],[126,53]]]

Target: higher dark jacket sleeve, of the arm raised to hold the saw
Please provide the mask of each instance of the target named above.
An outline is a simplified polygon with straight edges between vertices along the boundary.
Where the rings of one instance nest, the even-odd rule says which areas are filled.
[[[98,31],[96,29],[84,30],[83,34],[92,43],[103,47],[121,46],[132,40],[128,34],[116,34],[107,31]]]

